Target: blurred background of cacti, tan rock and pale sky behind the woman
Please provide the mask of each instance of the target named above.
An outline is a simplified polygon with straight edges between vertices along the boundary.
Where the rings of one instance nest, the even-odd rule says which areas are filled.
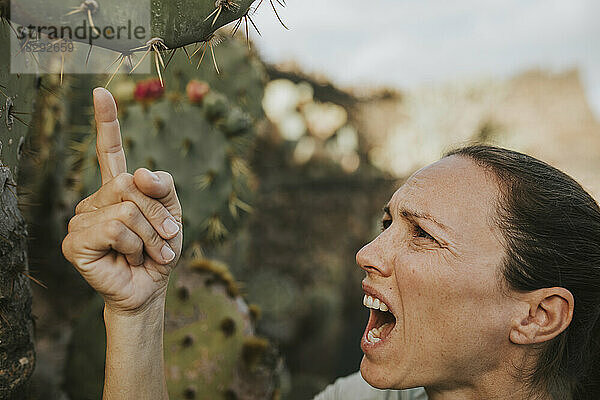
[[[474,141],[563,169],[600,197],[600,6],[592,0],[266,2],[199,69],[117,75],[131,172],[171,172],[185,256],[167,303],[172,399],[312,398],[358,370],[356,251],[415,170]],[[193,51],[193,49],[192,49]],[[192,52],[190,51],[190,53]],[[102,303],[62,258],[97,190],[91,90],[45,76],[19,176],[29,226],[32,397],[97,399]]]

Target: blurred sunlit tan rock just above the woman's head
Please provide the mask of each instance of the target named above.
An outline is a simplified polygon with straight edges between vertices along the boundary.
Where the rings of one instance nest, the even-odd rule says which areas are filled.
[[[541,158],[600,195],[600,124],[576,70],[421,87],[358,110],[369,160],[395,176],[452,147],[483,141]]]

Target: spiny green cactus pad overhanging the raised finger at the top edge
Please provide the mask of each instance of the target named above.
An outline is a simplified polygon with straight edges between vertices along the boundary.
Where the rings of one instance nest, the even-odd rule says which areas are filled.
[[[209,40],[215,30],[247,15],[254,0],[27,0],[12,3],[0,0],[0,7],[11,11],[13,22],[37,26],[64,26],[65,22],[83,19],[89,25],[103,30],[104,27],[127,27],[131,21],[140,20],[147,13],[150,32],[146,38],[159,38],[166,48],[175,49],[185,45]],[[23,20],[27,18],[26,20]],[[144,22],[144,21],[141,21]],[[143,26],[143,25],[142,25]],[[114,35],[113,35],[114,36]],[[79,40],[77,35],[73,40]],[[81,39],[88,42],[89,38]],[[110,40],[110,35],[100,35],[94,45],[121,53],[146,45],[136,40],[135,35],[127,39]],[[140,50],[140,49],[138,49]],[[144,49],[145,50],[145,49]]]

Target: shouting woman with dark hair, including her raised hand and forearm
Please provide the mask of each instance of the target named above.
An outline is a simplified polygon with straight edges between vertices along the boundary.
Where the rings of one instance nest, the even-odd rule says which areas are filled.
[[[125,173],[110,94],[96,90],[95,107],[103,186],[78,205],[63,252],[105,298],[105,398],[166,399],[181,208],[168,174]],[[575,181],[467,147],[411,176],[382,225],[356,256],[370,309],[360,373],[317,399],[600,398],[600,210]]]

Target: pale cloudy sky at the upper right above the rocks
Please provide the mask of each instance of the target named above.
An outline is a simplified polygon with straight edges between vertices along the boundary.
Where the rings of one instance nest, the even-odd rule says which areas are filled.
[[[276,0],[273,0],[275,4]],[[578,67],[600,118],[599,0],[264,0],[251,36],[269,62],[295,60],[340,86],[399,89]]]

